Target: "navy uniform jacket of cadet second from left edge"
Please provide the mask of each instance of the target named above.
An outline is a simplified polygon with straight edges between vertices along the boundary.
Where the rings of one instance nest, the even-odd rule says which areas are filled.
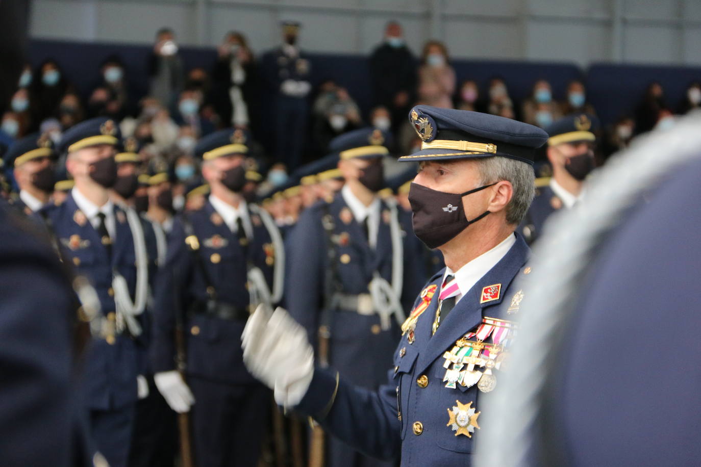
[[[95,288],[102,314],[114,319],[116,305],[112,289],[112,270],[123,275],[132,300],[136,287],[134,239],[125,212],[115,207],[116,235],[109,258],[100,235],[78,208],[72,195],[60,206],[49,206],[44,215],[50,221],[65,258],[73,261],[78,274],[87,277]],[[137,342],[127,334],[93,339],[83,369],[85,405],[90,410],[114,410],[137,400],[139,355]]]

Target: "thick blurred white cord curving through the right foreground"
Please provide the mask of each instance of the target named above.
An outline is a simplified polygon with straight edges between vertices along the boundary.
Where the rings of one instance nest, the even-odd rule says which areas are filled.
[[[596,258],[601,242],[620,225],[626,209],[679,165],[700,158],[700,127],[701,112],[696,111],[671,130],[639,137],[592,174],[582,202],[548,221],[545,235],[533,250],[529,286],[524,287],[526,300],[519,312],[522,337],[514,344],[503,383],[481,409],[486,419],[477,437],[475,465],[531,465],[529,454],[539,432],[544,375],[552,351],[547,342],[557,340],[562,333],[592,258]],[[665,169],[660,169],[660,155],[665,156]]]

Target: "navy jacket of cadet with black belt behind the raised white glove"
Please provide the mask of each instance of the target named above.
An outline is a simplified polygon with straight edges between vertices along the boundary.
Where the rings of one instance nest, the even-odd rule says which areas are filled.
[[[245,258],[238,237],[224,223],[209,201],[188,216],[198,237],[200,256],[212,279],[219,300],[247,309],[250,298],[246,288],[249,261],[261,269],[272,287],[274,255],[271,237],[257,214],[250,213],[253,238]],[[194,262],[182,219],[173,223],[168,239],[168,257],[156,282],[154,344],[151,363],[154,372],[174,370],[175,313],[186,315],[194,302],[206,302],[205,277]],[[185,316],[187,374],[229,384],[248,384],[256,380],[243,365],[240,337],[245,321],[219,319],[193,314]]]

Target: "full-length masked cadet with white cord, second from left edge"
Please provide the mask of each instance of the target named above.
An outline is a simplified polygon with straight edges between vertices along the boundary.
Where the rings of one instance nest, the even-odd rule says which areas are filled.
[[[65,202],[41,214],[76,271],[100,299],[100,329],[82,374],[83,405],[90,435],[111,466],[126,466],[135,403],[147,396],[139,373],[137,338],[149,290],[149,258],[142,224],[134,211],[109,199],[116,180],[113,120],[94,118],[64,133],[60,151],[75,186]]]

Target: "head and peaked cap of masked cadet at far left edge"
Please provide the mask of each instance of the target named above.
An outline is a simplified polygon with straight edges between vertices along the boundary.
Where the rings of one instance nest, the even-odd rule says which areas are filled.
[[[5,155],[5,165],[13,167],[20,188],[12,204],[27,215],[48,203],[54,184],[53,156],[51,140],[38,133],[15,141]]]

